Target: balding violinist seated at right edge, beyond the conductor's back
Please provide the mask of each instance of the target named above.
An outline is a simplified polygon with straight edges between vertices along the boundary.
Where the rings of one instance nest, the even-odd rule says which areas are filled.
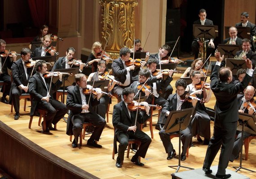
[[[247,105],[248,102],[255,104],[255,100],[253,99],[253,95],[255,92],[254,90],[254,87],[249,85],[243,90],[244,95],[238,94],[238,112],[247,113],[249,115],[255,114],[255,110]],[[235,159],[239,158],[239,153],[241,150],[242,131],[237,131],[236,133],[238,136],[234,141],[233,151],[230,156],[230,162],[233,162]],[[243,140],[249,136],[252,136],[252,134],[249,132],[243,132]]]

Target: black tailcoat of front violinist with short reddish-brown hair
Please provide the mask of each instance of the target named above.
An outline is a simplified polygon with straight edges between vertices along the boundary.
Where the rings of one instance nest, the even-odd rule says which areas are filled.
[[[89,101],[89,95],[85,95],[86,102]],[[96,114],[93,111],[93,107],[98,105],[100,102],[97,100],[97,98],[93,99],[93,96],[90,99],[89,103],[89,111],[92,114]],[[73,119],[75,115],[79,115],[82,112],[82,98],[79,91],[79,86],[70,86],[70,88],[67,89],[67,98],[66,98],[66,107],[70,110],[70,113],[68,115],[67,119],[67,128],[66,128],[66,134],[71,136],[73,135],[72,128],[73,128]]]

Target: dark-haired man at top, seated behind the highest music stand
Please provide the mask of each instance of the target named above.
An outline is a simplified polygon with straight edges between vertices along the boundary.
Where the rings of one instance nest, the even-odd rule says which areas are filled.
[[[213,22],[209,19],[206,18],[206,10],[205,9],[200,9],[199,10],[199,19],[194,21],[193,24],[197,24],[197,25],[203,25],[203,26],[213,26]],[[199,57],[199,48],[203,47],[203,41],[201,41],[203,39],[199,39],[199,38],[194,38],[192,45],[191,45],[191,49],[194,53],[194,59],[197,59]],[[214,43],[213,43],[213,38],[211,39],[204,39],[205,43],[206,43],[206,56],[209,56],[213,51],[214,51]]]

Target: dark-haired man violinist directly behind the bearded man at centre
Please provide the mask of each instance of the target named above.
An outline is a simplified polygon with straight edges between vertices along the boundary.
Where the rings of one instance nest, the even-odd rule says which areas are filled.
[[[149,59],[147,61],[147,69],[149,70],[151,76],[148,84],[150,84],[153,87],[154,105],[158,104],[159,106],[163,107],[163,105],[166,102],[166,99],[169,97],[170,94],[172,94],[173,91],[172,86],[170,85],[172,81],[173,70],[168,71],[168,77],[164,81],[162,73],[156,72],[156,76],[154,76],[155,74],[153,75],[153,73],[155,73],[156,71],[156,63],[156,59]],[[159,94],[160,89],[162,89],[164,92],[163,97]],[[157,130],[161,130],[163,126],[164,122],[159,118],[157,124],[155,125],[155,128]]]

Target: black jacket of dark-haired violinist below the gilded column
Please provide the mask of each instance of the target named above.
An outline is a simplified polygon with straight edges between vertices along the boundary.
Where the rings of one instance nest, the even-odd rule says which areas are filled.
[[[124,64],[123,64],[123,60],[120,59],[120,57],[116,60],[113,61],[112,63],[112,71],[113,71],[113,75],[115,77],[115,80],[120,81],[121,83],[124,83],[124,81],[126,80],[126,74],[127,74],[127,70],[124,68]],[[131,70],[130,73],[130,83],[132,82],[132,72],[133,70]]]

